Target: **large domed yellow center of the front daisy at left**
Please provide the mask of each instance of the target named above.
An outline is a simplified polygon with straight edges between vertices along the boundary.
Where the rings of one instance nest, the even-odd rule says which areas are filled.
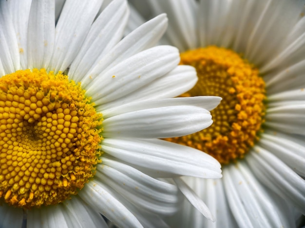
[[[80,83],[41,70],[0,78],[0,198],[30,208],[70,198],[95,174],[101,114]]]

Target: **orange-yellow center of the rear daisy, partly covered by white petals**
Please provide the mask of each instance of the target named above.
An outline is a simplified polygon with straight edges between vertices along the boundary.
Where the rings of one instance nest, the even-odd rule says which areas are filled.
[[[181,64],[196,68],[198,82],[182,96],[213,95],[223,98],[211,111],[214,123],[207,129],[167,139],[202,150],[222,164],[243,158],[258,140],[265,115],[265,82],[233,51],[209,46],[181,54]]]

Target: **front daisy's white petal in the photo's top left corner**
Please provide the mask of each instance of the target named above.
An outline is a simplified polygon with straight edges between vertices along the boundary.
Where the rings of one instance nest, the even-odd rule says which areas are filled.
[[[18,41],[7,1],[5,0],[0,1],[0,40],[0,59],[5,74],[19,70]]]

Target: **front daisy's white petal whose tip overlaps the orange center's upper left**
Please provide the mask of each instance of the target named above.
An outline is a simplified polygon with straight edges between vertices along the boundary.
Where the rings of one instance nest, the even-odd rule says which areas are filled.
[[[197,82],[197,79],[197,73],[193,67],[179,65],[168,74],[155,79],[151,83],[118,100],[97,106],[96,109],[102,111],[131,102],[176,97],[193,88]]]

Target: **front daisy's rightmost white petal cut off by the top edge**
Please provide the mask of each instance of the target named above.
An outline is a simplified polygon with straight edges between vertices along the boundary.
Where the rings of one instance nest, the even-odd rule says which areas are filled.
[[[102,11],[71,64],[71,79],[81,81],[88,70],[121,40],[128,15],[126,0],[114,0]]]

